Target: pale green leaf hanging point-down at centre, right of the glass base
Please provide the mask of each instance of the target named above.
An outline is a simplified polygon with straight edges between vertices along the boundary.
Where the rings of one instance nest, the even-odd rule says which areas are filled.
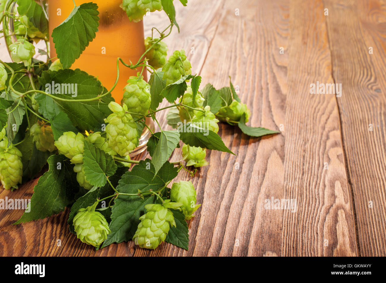
[[[152,137],[153,139],[151,141],[149,139],[149,142],[154,142],[155,148],[152,145],[149,152],[152,156],[151,162],[154,165],[156,172],[158,172],[161,166],[169,159],[179,143],[179,132],[176,130],[161,131],[159,136],[152,135]]]

